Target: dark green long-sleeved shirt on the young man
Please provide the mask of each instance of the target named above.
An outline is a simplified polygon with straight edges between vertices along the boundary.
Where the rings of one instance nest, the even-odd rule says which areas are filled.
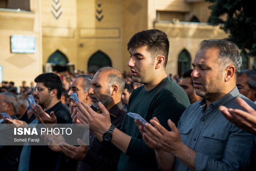
[[[157,117],[161,125],[170,130],[167,120],[171,119],[177,125],[188,105],[190,102],[185,91],[166,77],[150,91],[146,91],[144,85],[136,88],[130,95],[127,113],[138,113],[148,122]],[[126,115],[120,130],[132,139],[126,153],[121,153],[118,170],[157,170],[154,150],[142,140],[134,119]]]

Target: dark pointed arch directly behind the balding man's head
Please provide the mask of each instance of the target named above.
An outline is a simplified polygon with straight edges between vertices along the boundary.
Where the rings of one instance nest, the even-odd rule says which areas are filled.
[[[112,66],[110,58],[102,51],[98,50],[88,60],[87,70],[89,73],[96,73],[100,68]]]

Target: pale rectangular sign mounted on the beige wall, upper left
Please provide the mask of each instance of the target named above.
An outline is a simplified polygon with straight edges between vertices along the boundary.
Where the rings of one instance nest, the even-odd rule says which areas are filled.
[[[36,36],[12,35],[11,52],[34,54],[36,52]]]

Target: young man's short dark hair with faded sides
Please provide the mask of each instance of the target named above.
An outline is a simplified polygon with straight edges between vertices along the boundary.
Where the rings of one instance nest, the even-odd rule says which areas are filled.
[[[147,50],[151,53],[152,60],[155,60],[159,55],[164,56],[164,68],[166,67],[170,43],[167,35],[163,31],[151,29],[134,34],[127,44],[127,50],[143,46],[148,46]]]

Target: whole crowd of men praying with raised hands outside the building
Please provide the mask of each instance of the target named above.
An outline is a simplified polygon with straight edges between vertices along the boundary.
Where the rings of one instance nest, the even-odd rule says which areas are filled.
[[[234,43],[203,40],[181,77],[166,74],[164,32],[138,32],[127,46],[130,74],[105,67],[2,82],[0,112],[14,120],[0,123],[89,124],[90,145],[82,132],[79,145],[51,135],[47,145],[0,146],[1,170],[255,170],[256,71],[240,71]]]

